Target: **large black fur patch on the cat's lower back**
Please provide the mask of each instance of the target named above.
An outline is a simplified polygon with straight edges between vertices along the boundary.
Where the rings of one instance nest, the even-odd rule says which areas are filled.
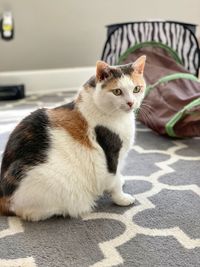
[[[16,190],[31,167],[46,162],[49,125],[45,109],[39,109],[23,119],[11,133],[1,165],[0,191],[4,196]]]

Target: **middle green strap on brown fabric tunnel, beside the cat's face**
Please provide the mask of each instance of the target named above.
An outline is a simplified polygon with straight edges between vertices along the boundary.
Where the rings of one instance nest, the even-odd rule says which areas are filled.
[[[177,72],[177,73],[173,73],[167,76],[162,77],[161,79],[159,79],[156,83],[152,84],[152,85],[148,85],[146,90],[145,90],[145,96],[149,94],[149,92],[155,88],[156,86],[158,86],[160,83],[167,83],[176,79],[186,79],[186,80],[191,80],[194,82],[200,82],[200,80],[194,76],[193,74],[190,73],[182,73],[182,72]]]

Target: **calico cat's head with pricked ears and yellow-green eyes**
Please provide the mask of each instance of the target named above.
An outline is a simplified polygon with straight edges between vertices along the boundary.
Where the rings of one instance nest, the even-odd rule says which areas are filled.
[[[97,61],[96,77],[89,81],[93,99],[103,112],[131,112],[139,108],[145,92],[143,71],[146,56],[134,63],[109,66]]]

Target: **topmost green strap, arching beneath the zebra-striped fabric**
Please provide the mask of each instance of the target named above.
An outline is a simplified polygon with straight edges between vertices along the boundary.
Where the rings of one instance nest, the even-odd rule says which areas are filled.
[[[160,42],[155,42],[155,41],[149,41],[149,42],[143,42],[143,43],[139,43],[139,44],[135,44],[134,46],[131,46],[129,47],[125,53],[123,53],[120,57],[119,57],[119,60],[118,60],[118,65],[120,64],[123,64],[124,60],[127,59],[127,57],[135,52],[136,50],[140,49],[140,48],[143,48],[143,47],[160,47],[160,48],[163,48],[165,49],[170,55],[171,57],[179,64],[181,65],[184,65],[182,60],[180,59],[179,55],[177,54],[176,51],[174,51],[171,47],[165,45],[165,44],[162,44]]]

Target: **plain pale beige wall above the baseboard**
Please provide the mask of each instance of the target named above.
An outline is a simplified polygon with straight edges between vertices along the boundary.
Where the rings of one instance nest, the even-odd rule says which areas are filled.
[[[200,0],[0,0],[14,14],[15,39],[0,39],[0,71],[92,66],[105,25],[145,19],[200,24]]]

